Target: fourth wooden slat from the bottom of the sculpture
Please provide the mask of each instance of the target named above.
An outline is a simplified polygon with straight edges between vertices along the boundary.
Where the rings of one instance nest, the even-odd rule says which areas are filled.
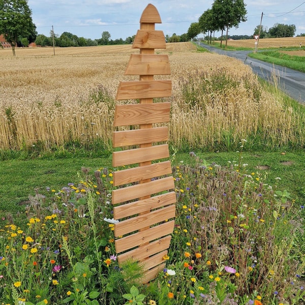
[[[129,249],[143,246],[151,240],[169,235],[173,232],[175,221],[168,221],[156,227],[143,230],[115,240],[115,252],[120,253]]]

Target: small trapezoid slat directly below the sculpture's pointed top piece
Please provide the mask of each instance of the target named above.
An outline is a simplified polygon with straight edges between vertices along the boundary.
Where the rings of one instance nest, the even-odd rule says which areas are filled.
[[[163,31],[138,29],[132,47],[139,49],[166,49]]]

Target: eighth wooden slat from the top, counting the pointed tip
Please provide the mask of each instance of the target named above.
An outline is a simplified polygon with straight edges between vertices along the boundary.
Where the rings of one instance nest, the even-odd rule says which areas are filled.
[[[133,167],[113,172],[113,186],[117,187],[132,182],[150,179],[172,173],[170,161]]]

